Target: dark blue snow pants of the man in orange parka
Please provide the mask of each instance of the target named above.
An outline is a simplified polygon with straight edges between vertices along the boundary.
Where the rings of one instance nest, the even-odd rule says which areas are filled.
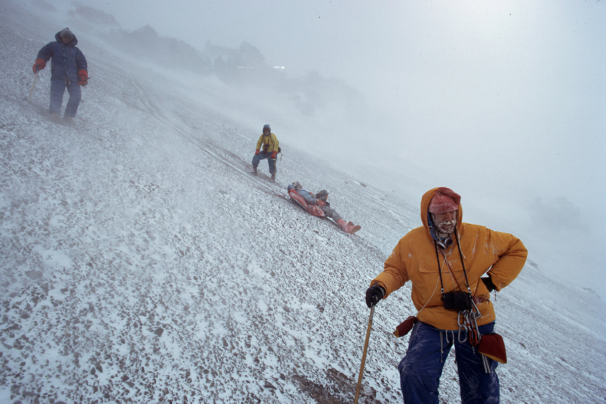
[[[479,326],[481,335],[491,333],[494,322]],[[461,339],[467,331],[461,331]],[[454,344],[462,404],[498,404],[499,378],[496,360],[488,359],[491,373],[484,373],[482,354],[469,340],[459,342],[458,331],[444,331],[417,322],[410,335],[406,355],[398,365],[404,404],[439,404],[438,386],[444,361]]]

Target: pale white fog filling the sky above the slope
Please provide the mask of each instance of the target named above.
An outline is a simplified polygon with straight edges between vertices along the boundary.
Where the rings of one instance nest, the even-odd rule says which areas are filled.
[[[453,188],[466,222],[516,234],[538,267],[604,296],[606,2],[76,5],[113,16],[118,31],[149,25],[202,53],[247,42],[281,77],[320,85],[315,98],[293,91],[307,111],[298,119],[239,83],[250,107],[241,123],[269,122],[283,144],[413,205],[429,188]]]

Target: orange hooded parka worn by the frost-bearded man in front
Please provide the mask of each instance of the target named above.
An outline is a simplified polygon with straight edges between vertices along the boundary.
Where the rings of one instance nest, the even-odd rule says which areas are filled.
[[[385,260],[385,269],[370,284],[385,289],[384,299],[401,288],[408,280],[412,283],[411,297],[418,314],[417,318],[438,329],[456,330],[458,312],[446,310],[442,302],[439,277],[442,268],[444,293],[453,290],[467,291],[465,275],[456,240],[453,245],[436,256],[435,243],[431,237],[427,209],[431,198],[438,188],[427,191],[421,199],[422,227],[411,230],[393,249]],[[457,229],[461,251],[464,257],[465,271],[471,289],[471,296],[481,313],[478,325],[494,321],[494,308],[490,302],[490,293],[480,280],[488,272],[496,290],[500,291],[518,276],[528,251],[522,242],[508,233],[493,231],[484,226],[462,222],[463,211],[459,204]],[[441,251],[441,250],[439,250]],[[444,258],[445,254],[445,258]],[[445,263],[448,263],[451,271]],[[407,315],[408,316],[408,315]]]

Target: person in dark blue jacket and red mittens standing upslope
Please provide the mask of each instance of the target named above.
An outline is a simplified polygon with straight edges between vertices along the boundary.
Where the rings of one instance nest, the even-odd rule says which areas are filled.
[[[50,62],[50,116],[56,118],[61,114],[65,88],[70,99],[65,107],[64,119],[71,121],[76,116],[82,98],[80,86],[88,84],[88,65],[82,51],[76,48],[78,39],[69,28],[64,28],[55,35],[55,42],[49,42],[38,52],[38,58],[32,66],[34,74]]]

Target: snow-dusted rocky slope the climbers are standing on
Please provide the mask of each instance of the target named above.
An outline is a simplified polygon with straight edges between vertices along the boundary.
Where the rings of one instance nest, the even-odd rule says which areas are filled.
[[[265,161],[250,176],[264,122],[235,113],[238,91],[136,64],[84,22],[70,28],[90,85],[74,125],[53,123],[48,68],[27,97],[36,52],[63,26],[3,8],[0,402],[353,402],[364,292],[421,224],[420,195],[331,168],[277,128],[278,181]],[[294,180],[330,191],[362,230],[288,200]],[[414,314],[409,294],[376,307],[360,402],[401,402],[407,337],[391,333]],[[604,403],[603,300],[529,260],[495,306],[503,403]],[[441,401],[459,402],[451,357]]]

